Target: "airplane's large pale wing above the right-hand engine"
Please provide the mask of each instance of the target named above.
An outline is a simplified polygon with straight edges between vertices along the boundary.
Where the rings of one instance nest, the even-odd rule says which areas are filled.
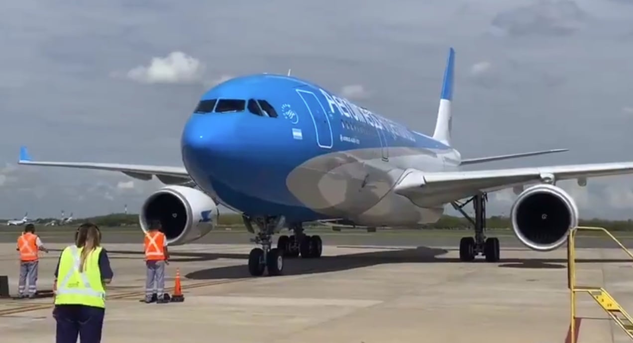
[[[560,181],[622,174],[633,174],[633,162],[457,172],[423,172],[408,169],[394,187],[394,191],[406,196],[420,207],[428,207],[460,200],[480,191],[498,191],[547,179]]]

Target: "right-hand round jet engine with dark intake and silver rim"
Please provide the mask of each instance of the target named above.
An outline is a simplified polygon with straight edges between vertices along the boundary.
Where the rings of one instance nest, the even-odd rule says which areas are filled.
[[[555,250],[578,226],[578,207],[560,187],[537,184],[523,191],[512,205],[512,229],[521,243],[536,251]]]

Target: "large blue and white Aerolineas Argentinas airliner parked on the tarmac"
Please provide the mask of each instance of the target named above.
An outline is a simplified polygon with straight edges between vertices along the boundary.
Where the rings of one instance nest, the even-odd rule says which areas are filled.
[[[499,261],[499,239],[486,237],[491,191],[513,188],[512,229],[528,248],[549,251],[577,226],[575,200],[556,182],[633,173],[633,162],[465,171],[463,166],[567,149],[463,159],[452,145],[455,51],[448,52],[432,136],[320,85],[289,75],[238,76],[210,88],[180,138],[183,167],[96,162],[41,162],[20,148],[19,164],[154,176],[166,186],[142,204],[139,224],[159,219],[168,244],[187,244],[217,224],[218,204],[242,214],[261,246],[249,253],[251,275],[281,275],[284,257],[319,258],[322,239],[302,223],[416,226],[436,222],[450,204],[474,227],[461,238],[460,259]],[[290,73],[288,73],[290,74]],[[421,114],[420,114],[421,115]],[[468,202],[461,200],[468,199]],[[463,211],[473,203],[475,218]],[[273,235],[282,229],[273,247]]]

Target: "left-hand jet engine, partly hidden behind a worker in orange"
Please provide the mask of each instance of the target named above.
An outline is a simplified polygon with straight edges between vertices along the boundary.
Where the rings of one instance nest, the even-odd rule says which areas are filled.
[[[169,245],[191,243],[218,224],[220,212],[203,192],[185,186],[166,186],[145,200],[139,214],[143,232],[149,220],[161,221]]]

